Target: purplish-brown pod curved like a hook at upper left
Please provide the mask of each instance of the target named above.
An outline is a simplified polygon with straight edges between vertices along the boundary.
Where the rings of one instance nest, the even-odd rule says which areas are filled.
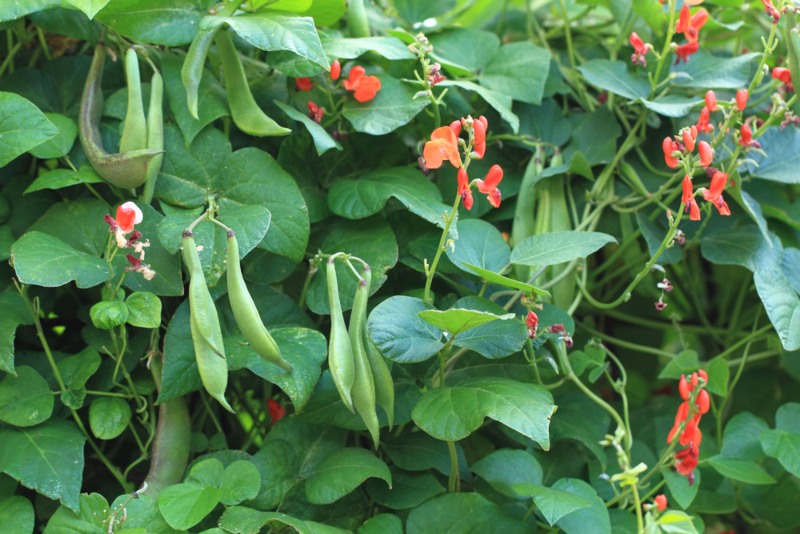
[[[143,149],[109,154],[103,148],[100,118],[103,115],[101,81],[105,59],[105,48],[98,46],[83,87],[78,132],[83,151],[97,174],[112,185],[133,189],[144,183],[147,179],[147,169],[162,151]]]

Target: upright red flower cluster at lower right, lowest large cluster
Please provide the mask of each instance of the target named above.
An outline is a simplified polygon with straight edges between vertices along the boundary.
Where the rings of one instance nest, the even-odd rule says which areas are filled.
[[[707,383],[708,375],[705,371],[692,373],[690,380],[687,380],[685,375],[681,376],[680,382],[678,382],[678,392],[683,402],[678,407],[675,424],[667,436],[668,444],[672,444],[678,437],[681,445],[688,446],[675,453],[675,470],[687,477],[690,484],[694,482],[694,468],[697,467],[700,443],[703,441],[700,419],[703,414],[708,412],[710,404],[708,391],[705,390]],[[683,431],[678,436],[681,427],[683,427]]]

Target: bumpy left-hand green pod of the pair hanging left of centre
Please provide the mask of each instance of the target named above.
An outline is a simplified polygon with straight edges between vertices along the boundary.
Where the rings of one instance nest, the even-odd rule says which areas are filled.
[[[225,400],[228,387],[228,363],[219,325],[217,308],[206,285],[197,245],[192,233],[183,233],[183,259],[189,268],[189,325],[200,380],[209,395],[223,408],[236,413]]]

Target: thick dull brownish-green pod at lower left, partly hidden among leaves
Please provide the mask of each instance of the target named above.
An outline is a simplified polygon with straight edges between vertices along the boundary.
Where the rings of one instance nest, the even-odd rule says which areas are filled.
[[[156,387],[161,390],[162,365],[158,358],[150,362]],[[183,480],[192,443],[192,426],[186,398],[178,397],[158,407],[158,426],[150,453],[150,470],[145,477],[147,496],[153,499],[159,492]]]

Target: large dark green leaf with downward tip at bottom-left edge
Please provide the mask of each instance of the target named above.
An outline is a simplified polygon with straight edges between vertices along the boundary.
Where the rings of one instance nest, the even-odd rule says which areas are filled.
[[[61,420],[32,428],[0,428],[0,471],[77,511],[85,440],[74,424]]]

